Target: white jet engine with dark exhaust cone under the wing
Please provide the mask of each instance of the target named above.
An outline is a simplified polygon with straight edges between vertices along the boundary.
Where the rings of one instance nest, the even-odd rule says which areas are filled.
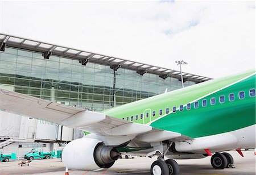
[[[81,138],[65,146],[61,159],[69,169],[97,170],[110,168],[119,156],[116,148],[105,146],[100,139]]]

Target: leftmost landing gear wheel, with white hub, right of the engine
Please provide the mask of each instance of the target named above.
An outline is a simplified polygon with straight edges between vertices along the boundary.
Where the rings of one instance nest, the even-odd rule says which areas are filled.
[[[165,175],[169,174],[169,169],[164,161],[156,160],[152,163],[150,172],[152,175]]]

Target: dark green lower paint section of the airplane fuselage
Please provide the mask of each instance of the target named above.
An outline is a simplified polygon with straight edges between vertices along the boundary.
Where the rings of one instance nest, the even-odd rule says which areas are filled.
[[[199,100],[199,108],[193,107],[169,114],[152,123],[151,126],[162,130],[179,132],[191,138],[209,136],[238,130],[255,124],[255,97],[249,96],[249,90],[255,88],[256,76],[238,82],[225,89],[217,91],[203,99],[207,106],[202,107],[203,99]],[[245,99],[239,99],[240,91],[245,91]],[[229,101],[229,94],[234,93],[235,100]],[[220,103],[219,97],[225,96],[225,102]],[[210,98],[216,98],[216,105],[210,105]]]

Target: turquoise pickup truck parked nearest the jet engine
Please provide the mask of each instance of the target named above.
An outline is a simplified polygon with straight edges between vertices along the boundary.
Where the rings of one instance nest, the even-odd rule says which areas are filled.
[[[52,152],[42,152],[39,151],[38,148],[33,148],[29,153],[24,155],[24,158],[27,160],[34,160],[34,159],[50,159],[55,157],[55,151]]]

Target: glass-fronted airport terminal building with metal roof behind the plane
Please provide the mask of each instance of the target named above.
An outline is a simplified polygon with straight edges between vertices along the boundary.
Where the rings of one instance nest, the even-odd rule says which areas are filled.
[[[183,72],[184,86],[208,80]],[[181,87],[177,70],[0,34],[2,89],[102,111]],[[3,153],[15,152],[22,157],[32,148],[61,149],[83,135],[77,129],[0,111]]]

